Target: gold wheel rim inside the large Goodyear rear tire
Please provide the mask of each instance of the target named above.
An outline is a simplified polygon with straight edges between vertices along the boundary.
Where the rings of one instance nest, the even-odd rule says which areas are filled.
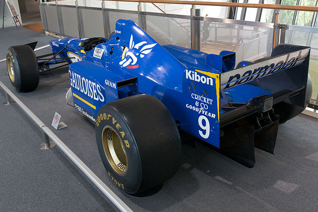
[[[124,174],[127,170],[127,155],[120,137],[112,127],[105,126],[101,139],[109,164],[118,174]]]

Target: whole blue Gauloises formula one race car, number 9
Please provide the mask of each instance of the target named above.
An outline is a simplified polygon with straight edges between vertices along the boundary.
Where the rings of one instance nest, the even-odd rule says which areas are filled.
[[[34,90],[45,67],[71,64],[67,101],[95,123],[108,175],[129,194],[158,187],[176,173],[180,135],[253,167],[254,146],[273,153],[278,124],[300,114],[312,93],[309,47],[279,45],[270,57],[236,66],[234,52],[160,46],[130,20],[118,20],[110,39],[65,38],[50,45],[53,57],[46,61],[48,55],[36,57],[30,45],[9,48],[13,86]]]

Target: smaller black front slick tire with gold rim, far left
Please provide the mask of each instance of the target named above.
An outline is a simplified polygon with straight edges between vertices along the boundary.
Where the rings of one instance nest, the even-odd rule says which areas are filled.
[[[38,86],[39,65],[30,46],[11,46],[6,53],[6,66],[17,91],[30,92]]]

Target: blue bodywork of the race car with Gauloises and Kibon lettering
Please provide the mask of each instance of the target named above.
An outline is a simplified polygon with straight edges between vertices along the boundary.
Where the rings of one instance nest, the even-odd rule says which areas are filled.
[[[71,64],[69,76],[74,104],[92,121],[108,102],[150,94],[166,106],[182,131],[220,147],[220,117],[227,112],[221,107],[273,93],[258,86],[258,75],[254,84],[242,83],[246,77],[233,81],[235,86],[230,82],[222,84],[221,74],[235,69],[233,52],[214,55],[175,45],[160,46],[130,20],[118,20],[115,29],[111,38],[105,39],[107,42],[88,51],[82,46],[85,39],[50,42],[53,52],[67,46],[60,57],[70,58],[67,61]],[[279,70],[282,71],[286,63],[277,67],[282,67]],[[136,77],[132,85],[118,87],[119,82]],[[231,87],[221,88],[227,84]]]

